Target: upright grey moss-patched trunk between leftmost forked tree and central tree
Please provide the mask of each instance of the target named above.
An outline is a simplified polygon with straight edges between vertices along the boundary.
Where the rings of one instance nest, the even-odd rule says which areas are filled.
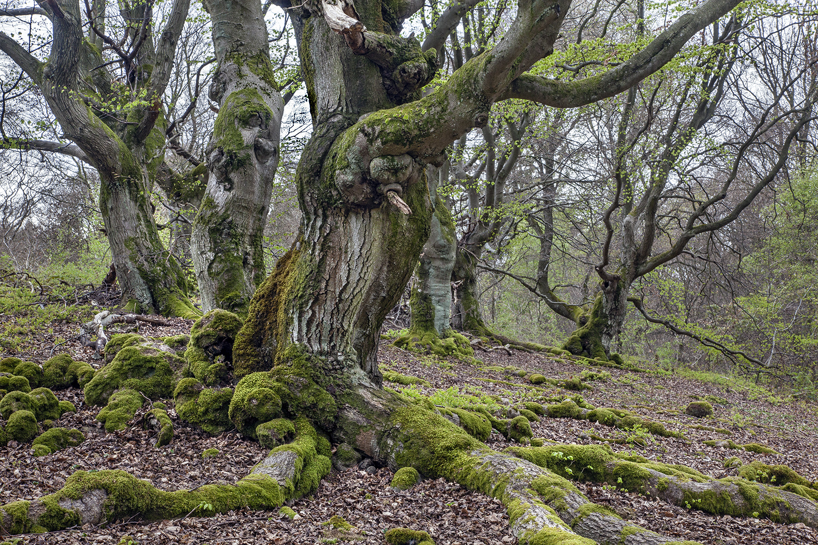
[[[260,3],[209,0],[205,9],[218,60],[209,95],[219,110],[191,254],[204,310],[245,315],[266,277],[262,243],[284,101],[273,76]]]

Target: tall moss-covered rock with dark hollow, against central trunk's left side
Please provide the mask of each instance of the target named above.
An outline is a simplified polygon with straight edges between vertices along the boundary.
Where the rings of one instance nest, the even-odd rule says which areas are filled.
[[[233,342],[243,322],[227,310],[210,310],[193,324],[185,358],[189,372],[205,386],[231,380]]]

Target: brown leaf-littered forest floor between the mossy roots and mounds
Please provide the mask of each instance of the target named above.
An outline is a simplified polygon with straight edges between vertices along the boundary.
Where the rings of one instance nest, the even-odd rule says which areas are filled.
[[[0,321],[9,319],[0,315]],[[161,327],[142,324],[143,336],[166,337],[187,333],[192,322],[170,320]],[[70,319],[44,324],[29,342],[11,350],[2,349],[0,357],[15,355],[24,360],[43,363],[51,355],[67,353],[74,360],[84,360],[94,367],[92,350],[79,342],[65,342],[52,354],[57,338],[74,337],[77,324]],[[532,422],[533,436],[546,443],[600,444],[592,436],[620,440],[611,444],[614,451],[638,453],[650,460],[683,464],[713,477],[735,476],[725,460],[738,457],[745,464],[760,460],[766,464],[784,464],[808,480],[818,480],[818,404],[783,398],[771,391],[739,378],[717,373],[691,372],[684,369],[615,369],[591,367],[580,361],[551,355],[512,351],[478,352],[482,363],[438,359],[415,355],[381,342],[380,364],[403,375],[420,377],[430,386],[384,386],[401,388],[410,395],[432,395],[447,402],[456,395],[499,396],[503,404],[546,400],[555,395],[578,392],[560,390],[549,384],[534,386],[519,377],[516,369],[542,373],[545,377],[567,379],[583,372],[594,372],[596,380],[588,381],[591,390],[580,395],[598,407],[627,409],[663,425],[671,431],[683,431],[683,438],[663,438],[619,431],[585,420],[542,418]],[[124,431],[106,433],[97,422],[98,408],[82,403],[82,391],[56,391],[60,400],[70,400],[76,413],[66,413],[56,426],[75,427],[86,440],[43,457],[34,457],[30,444],[11,442],[0,447],[0,504],[30,500],[50,494],[65,483],[73,471],[123,469],[151,481],[160,489],[190,489],[213,481],[235,482],[245,476],[267,452],[258,443],[243,439],[236,431],[209,437],[187,426],[173,412],[174,437],[171,444],[156,448],[155,431],[146,431],[140,419],[146,409],[137,413]],[[708,400],[714,414],[693,418],[684,410],[692,400]],[[437,402],[437,401],[436,401]],[[757,443],[775,453],[753,453],[704,444],[705,440],[732,440],[735,444]],[[644,444],[640,444],[644,443]],[[488,444],[494,449],[509,446],[502,436],[492,432]],[[205,449],[218,449],[213,458],[202,458]],[[364,464],[365,466],[366,464]],[[326,525],[330,516],[341,516],[354,526],[351,542],[384,543],[384,530],[406,526],[428,531],[438,545],[478,545],[516,543],[510,534],[509,520],[501,504],[482,494],[443,480],[424,480],[414,488],[396,492],[389,487],[392,473],[386,468],[375,471],[353,468],[333,471],[322,481],[315,494],[294,502],[290,507],[297,516],[290,520],[277,511],[231,511],[212,517],[187,516],[177,520],[145,523],[117,520],[107,525],[69,529],[50,534],[15,536],[18,543],[335,543],[339,536]],[[603,485],[580,484],[591,501],[616,511],[634,524],[655,530],[679,540],[723,545],[741,544],[811,544],[818,545],[818,531],[802,524],[784,525],[756,518],[712,516],[657,502],[639,494],[611,489]],[[0,529],[2,536],[2,529]],[[349,538],[350,534],[344,534]],[[8,538],[7,538],[8,539]],[[342,538],[343,539],[343,538]],[[2,538],[0,538],[2,541]]]

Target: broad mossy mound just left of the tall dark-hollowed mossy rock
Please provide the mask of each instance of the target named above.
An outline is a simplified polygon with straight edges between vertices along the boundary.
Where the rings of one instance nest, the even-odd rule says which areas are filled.
[[[173,395],[184,360],[153,346],[125,346],[85,386],[85,403],[103,405],[121,388],[140,391],[151,400]]]

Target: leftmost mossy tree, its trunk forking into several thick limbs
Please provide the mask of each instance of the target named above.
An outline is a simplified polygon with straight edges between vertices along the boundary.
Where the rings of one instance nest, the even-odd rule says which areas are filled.
[[[0,50],[38,86],[65,136],[100,174],[100,208],[124,302],[133,310],[165,315],[197,314],[187,297],[187,279],[160,240],[150,201],[164,163],[160,97],[188,7],[189,0],[173,2],[156,39],[151,25],[130,36],[133,54],[123,57],[126,83],[107,71],[101,38],[83,38],[77,0],[43,4],[53,33],[45,62],[0,33]],[[123,13],[133,20],[152,17],[145,3]],[[104,28],[97,29],[104,34]],[[131,102],[136,96],[139,100]]]

